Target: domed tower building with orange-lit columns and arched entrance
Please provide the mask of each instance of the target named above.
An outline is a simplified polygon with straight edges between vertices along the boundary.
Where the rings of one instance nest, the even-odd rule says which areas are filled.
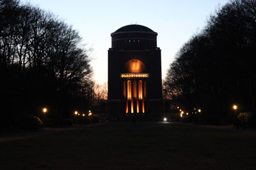
[[[161,112],[161,50],[157,32],[126,25],[111,34],[108,50],[108,112],[150,115]]]

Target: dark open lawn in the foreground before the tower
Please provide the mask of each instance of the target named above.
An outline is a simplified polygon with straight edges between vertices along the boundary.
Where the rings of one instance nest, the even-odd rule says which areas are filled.
[[[256,169],[256,132],[98,124],[0,142],[0,169]]]

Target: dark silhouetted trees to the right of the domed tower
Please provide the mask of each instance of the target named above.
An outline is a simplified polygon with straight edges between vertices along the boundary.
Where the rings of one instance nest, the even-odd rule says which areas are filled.
[[[164,92],[184,110],[202,109],[202,119],[230,122],[237,112],[255,121],[256,1],[236,0],[216,10],[205,28],[180,48]]]

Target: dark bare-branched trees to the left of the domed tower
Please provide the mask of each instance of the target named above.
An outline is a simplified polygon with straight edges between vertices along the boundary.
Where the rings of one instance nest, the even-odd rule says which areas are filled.
[[[26,115],[68,118],[92,105],[92,69],[82,39],[55,15],[0,1],[1,125]]]

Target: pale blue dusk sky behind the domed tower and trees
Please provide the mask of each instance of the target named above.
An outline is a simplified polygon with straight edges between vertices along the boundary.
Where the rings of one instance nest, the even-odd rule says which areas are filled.
[[[79,31],[86,48],[93,48],[90,56],[94,79],[101,84],[108,81],[108,48],[111,48],[112,32],[129,24],[145,25],[157,32],[164,78],[179,48],[204,28],[218,6],[229,0],[20,1],[51,11]]]

